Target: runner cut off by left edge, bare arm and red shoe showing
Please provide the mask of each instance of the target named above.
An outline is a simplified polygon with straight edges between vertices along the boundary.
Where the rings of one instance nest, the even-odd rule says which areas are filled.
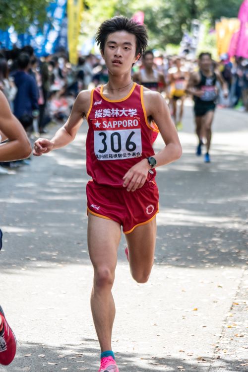
[[[0,161],[12,161],[28,157],[31,146],[22,125],[11,113],[7,99],[0,91]],[[2,140],[7,143],[1,144]],[[0,229],[0,250],[2,232]],[[14,359],[16,339],[0,306],[0,364],[7,366]]]

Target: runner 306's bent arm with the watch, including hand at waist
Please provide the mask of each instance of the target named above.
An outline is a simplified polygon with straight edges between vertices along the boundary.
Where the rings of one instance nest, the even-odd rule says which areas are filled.
[[[165,99],[158,92],[144,89],[144,104],[147,117],[152,116],[166,145],[157,154],[152,155],[156,159],[156,167],[179,159],[182,155],[182,147]],[[135,191],[142,187],[146,181],[149,169],[150,165],[147,159],[142,159],[133,165],[123,178],[123,186],[126,187],[126,190]]]

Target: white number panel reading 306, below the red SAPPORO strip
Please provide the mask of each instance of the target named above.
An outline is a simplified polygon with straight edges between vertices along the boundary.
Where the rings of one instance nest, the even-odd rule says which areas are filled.
[[[115,160],[140,156],[140,129],[94,131],[95,155],[99,160]]]

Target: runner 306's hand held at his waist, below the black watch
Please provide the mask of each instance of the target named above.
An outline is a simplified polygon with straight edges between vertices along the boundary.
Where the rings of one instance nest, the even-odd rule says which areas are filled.
[[[133,165],[123,177],[123,187],[126,187],[126,191],[140,189],[146,181],[147,173],[150,168],[147,159],[142,159],[137,164]]]

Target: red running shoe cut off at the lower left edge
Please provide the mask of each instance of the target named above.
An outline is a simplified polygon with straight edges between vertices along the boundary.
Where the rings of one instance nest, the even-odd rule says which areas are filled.
[[[1,306],[0,321],[0,364],[7,366],[15,357],[16,338],[5,319]]]

